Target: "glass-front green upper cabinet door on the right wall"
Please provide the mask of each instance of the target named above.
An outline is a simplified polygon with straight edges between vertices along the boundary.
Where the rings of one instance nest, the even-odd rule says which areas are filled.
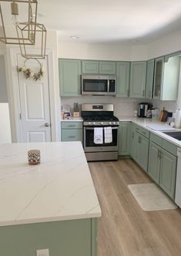
[[[156,58],[153,84],[153,99],[160,99],[163,86],[164,57]]]

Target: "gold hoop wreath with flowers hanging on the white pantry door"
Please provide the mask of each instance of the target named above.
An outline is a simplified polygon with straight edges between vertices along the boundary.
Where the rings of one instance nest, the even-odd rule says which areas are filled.
[[[34,60],[39,63],[39,72],[32,72],[31,69],[25,67],[25,62],[27,62],[28,59],[25,59],[25,62],[23,63],[22,68],[18,68],[18,72],[23,72],[25,79],[32,78],[33,80],[37,81],[37,80],[41,80],[45,72],[45,69],[43,69],[42,64],[39,62],[38,59],[34,59]]]

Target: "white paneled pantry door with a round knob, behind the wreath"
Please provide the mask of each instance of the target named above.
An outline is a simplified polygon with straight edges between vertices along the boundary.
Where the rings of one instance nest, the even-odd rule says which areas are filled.
[[[18,67],[23,67],[25,58],[18,55]],[[51,120],[49,106],[49,67],[46,59],[39,59],[45,69],[43,77],[34,81],[25,79],[23,72],[18,72],[19,101],[22,121],[22,142],[51,141]],[[39,62],[28,59],[25,68],[39,72]]]

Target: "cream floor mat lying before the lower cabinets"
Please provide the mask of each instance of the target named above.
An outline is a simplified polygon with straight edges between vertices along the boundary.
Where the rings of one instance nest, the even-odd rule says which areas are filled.
[[[144,211],[160,211],[178,208],[156,184],[130,184],[129,190]]]

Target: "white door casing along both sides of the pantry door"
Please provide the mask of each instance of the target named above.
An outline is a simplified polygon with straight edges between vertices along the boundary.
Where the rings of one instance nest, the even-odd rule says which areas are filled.
[[[12,142],[22,142],[22,126],[19,118],[21,113],[19,93],[18,93],[18,72],[17,72],[17,55],[21,54],[18,48],[7,48],[7,70],[8,70],[8,99],[10,109],[10,120],[12,128]],[[55,58],[52,49],[46,49],[49,63],[49,101],[50,115],[52,123],[52,141],[59,141],[59,102],[56,92],[59,92],[58,85],[55,84]]]

